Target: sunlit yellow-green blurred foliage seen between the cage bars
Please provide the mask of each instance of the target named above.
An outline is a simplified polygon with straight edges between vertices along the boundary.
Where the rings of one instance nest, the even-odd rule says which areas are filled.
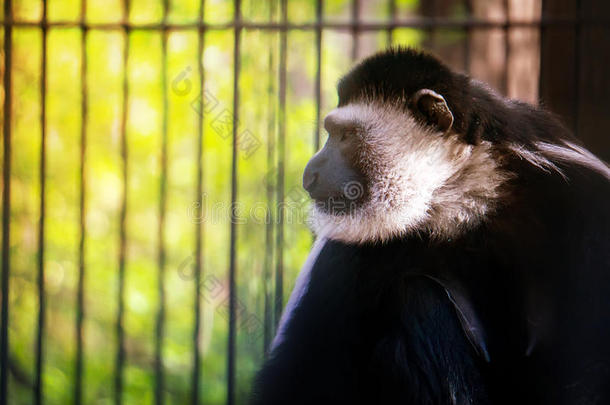
[[[350,1],[324,2],[325,18],[347,21]],[[362,18],[387,20],[388,2],[363,2]],[[17,20],[39,21],[39,0],[13,2]],[[51,21],[77,21],[80,0],[51,0]],[[174,0],[168,21],[194,22],[196,0]],[[270,11],[273,7],[273,11]],[[290,0],[288,15],[293,22],[315,20],[315,0]],[[417,0],[398,2],[398,13],[414,13]],[[133,0],[129,21],[158,23],[161,1]],[[271,2],[245,0],[243,16],[259,22],[278,21],[279,6]],[[460,10],[456,10],[459,13]],[[233,3],[205,2],[205,19],[229,22]],[[119,22],[120,0],[89,0],[87,20]],[[51,28],[48,33],[47,168],[45,287],[47,327],[44,336],[43,390],[45,403],[72,402],[75,380],[75,317],[79,244],[79,171],[81,131],[81,31]],[[166,403],[183,404],[190,395],[194,284],[192,255],[195,227],[192,215],[197,200],[197,124],[192,103],[200,95],[197,66],[197,31],[171,31],[168,39],[167,94],[168,172],[166,215],[166,333],[163,342]],[[419,45],[426,33],[397,29],[395,43]],[[459,41],[461,33],[445,35],[443,41]],[[84,321],[84,402],[113,401],[116,356],[116,312],[118,302],[119,210],[122,200],[120,121],[122,103],[123,45],[121,29],[91,30],[87,37],[89,114],[86,122],[86,240]],[[205,34],[203,66],[205,89],[218,100],[213,114],[204,120],[203,189],[208,204],[228,207],[231,195],[231,139],[211,127],[214,116],[233,106],[233,31],[213,30]],[[314,152],[316,125],[316,48],[313,30],[287,34],[286,102],[286,199],[299,200],[301,172]],[[361,55],[388,44],[385,31],[366,32],[360,37]],[[162,34],[155,30],[133,30],[127,75],[129,98],[127,143],[127,256],[125,280],[126,369],[124,403],[151,403],[154,393],[154,339],[158,306],[158,222],[161,179],[160,150],[163,119]],[[277,144],[278,63],[277,31],[245,30],[242,33],[240,128],[249,130],[261,143],[250,156],[239,157],[238,200],[242,212],[267,207],[267,145]],[[348,31],[325,31],[322,57],[322,114],[336,104],[335,84],[352,64],[352,37]],[[31,404],[34,379],[38,295],[37,232],[39,221],[40,146],[39,114],[41,30],[36,26],[13,31],[13,156],[11,174],[10,241],[10,359],[9,402]],[[271,56],[271,59],[270,59]],[[270,67],[271,61],[271,67]],[[182,76],[181,76],[182,75]],[[191,86],[180,79],[189,81]],[[4,119],[4,117],[3,117]],[[322,141],[324,136],[322,136]],[[272,156],[272,161],[277,157]],[[289,192],[293,194],[288,194]],[[305,205],[303,206],[305,209]],[[257,218],[261,219],[261,211]],[[227,211],[228,213],[228,211]],[[245,217],[247,215],[244,215]],[[229,265],[228,215],[206,220],[203,226],[204,280],[218,281],[227,292]],[[238,225],[238,298],[256,319],[264,319],[263,271],[265,259],[264,221],[246,218]],[[275,236],[274,236],[275,237]],[[303,221],[285,225],[284,295],[287,299],[298,269],[312,243]],[[269,263],[270,269],[275,263]],[[187,276],[185,276],[187,274]],[[208,277],[213,276],[212,279]],[[268,286],[273,291],[273,284]],[[203,338],[201,344],[201,398],[205,404],[226,401],[227,331],[221,298],[201,297]],[[246,330],[238,328],[237,398],[243,403],[251,378],[264,356],[262,323]],[[253,329],[253,330],[252,330]]]

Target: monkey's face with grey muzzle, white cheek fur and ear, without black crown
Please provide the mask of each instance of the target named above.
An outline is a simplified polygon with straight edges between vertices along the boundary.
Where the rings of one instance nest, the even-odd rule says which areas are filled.
[[[348,243],[423,230],[450,236],[484,214],[472,191],[488,182],[469,168],[479,165],[493,177],[495,164],[486,145],[463,142],[452,121],[445,100],[431,90],[417,92],[408,109],[360,101],[331,111],[324,120],[328,140],[303,175],[318,236]]]

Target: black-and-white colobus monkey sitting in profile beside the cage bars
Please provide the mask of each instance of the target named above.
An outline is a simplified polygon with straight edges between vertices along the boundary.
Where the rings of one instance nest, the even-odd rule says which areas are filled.
[[[318,239],[253,403],[610,404],[608,166],[414,50],[338,93],[303,175]]]

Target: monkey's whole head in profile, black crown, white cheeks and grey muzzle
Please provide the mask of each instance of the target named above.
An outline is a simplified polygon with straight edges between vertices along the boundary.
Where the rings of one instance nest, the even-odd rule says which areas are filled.
[[[303,186],[318,236],[348,243],[412,232],[451,238],[493,209],[508,174],[489,142],[468,139],[469,79],[408,49],[375,55],[341,79],[328,140]]]

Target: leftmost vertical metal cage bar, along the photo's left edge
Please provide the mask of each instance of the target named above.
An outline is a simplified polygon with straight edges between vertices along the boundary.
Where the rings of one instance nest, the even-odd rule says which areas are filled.
[[[4,18],[9,21],[4,27],[4,122],[3,146],[4,164],[2,167],[2,323],[0,325],[0,404],[8,403],[8,294],[10,275],[10,215],[11,215],[11,119],[12,119],[12,45],[13,2],[4,1]]]

